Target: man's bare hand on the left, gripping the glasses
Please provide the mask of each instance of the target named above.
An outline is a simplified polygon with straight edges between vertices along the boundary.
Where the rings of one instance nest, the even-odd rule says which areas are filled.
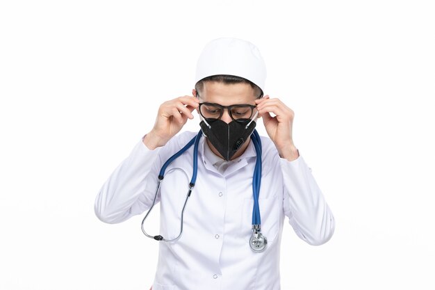
[[[188,118],[193,119],[192,111],[198,106],[199,99],[187,95],[161,104],[154,127],[143,138],[143,143],[149,150],[165,145],[183,128]]]

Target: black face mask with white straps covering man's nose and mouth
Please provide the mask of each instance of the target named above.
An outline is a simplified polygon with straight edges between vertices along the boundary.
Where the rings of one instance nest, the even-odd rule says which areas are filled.
[[[247,124],[249,124],[248,127],[246,127]],[[243,143],[249,139],[256,123],[250,119],[233,120],[229,124],[218,119],[206,119],[206,122],[202,120],[199,126],[201,126],[202,133],[210,140],[216,150],[225,160],[230,161]]]

